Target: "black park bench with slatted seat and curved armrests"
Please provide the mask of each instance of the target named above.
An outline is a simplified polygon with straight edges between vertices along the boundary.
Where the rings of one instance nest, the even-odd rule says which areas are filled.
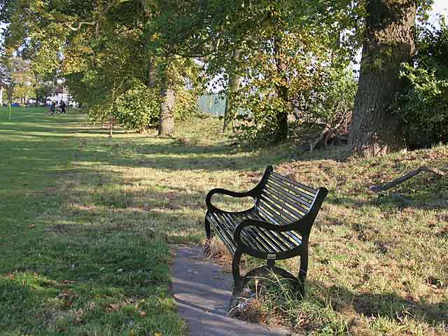
[[[211,197],[215,194],[253,197],[255,204],[246,211],[223,211],[211,203]],[[304,186],[277,174],[271,166],[267,167],[260,183],[246,193],[221,188],[208,193],[205,216],[207,244],[216,233],[232,253],[234,297],[250,279],[270,273],[292,280],[303,293],[308,269],[309,233],[327,194],[327,189],[316,190]],[[244,253],[267,260],[267,265],[252,269],[245,276],[241,276],[239,262]],[[297,277],[274,265],[276,260],[297,255],[300,256],[300,271]]]

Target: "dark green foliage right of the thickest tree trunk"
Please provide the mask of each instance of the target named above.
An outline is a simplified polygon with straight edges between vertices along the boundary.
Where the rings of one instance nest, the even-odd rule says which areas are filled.
[[[419,36],[416,66],[403,64],[407,89],[391,106],[403,120],[409,148],[448,142],[448,27],[426,27]]]

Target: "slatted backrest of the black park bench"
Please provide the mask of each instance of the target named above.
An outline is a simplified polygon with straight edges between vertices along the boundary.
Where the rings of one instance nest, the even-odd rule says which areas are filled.
[[[269,166],[260,181],[260,195],[255,209],[276,225],[288,225],[299,221],[310,211],[317,215],[327,193],[325,188],[316,190],[277,174]],[[311,219],[314,221],[314,218]]]

